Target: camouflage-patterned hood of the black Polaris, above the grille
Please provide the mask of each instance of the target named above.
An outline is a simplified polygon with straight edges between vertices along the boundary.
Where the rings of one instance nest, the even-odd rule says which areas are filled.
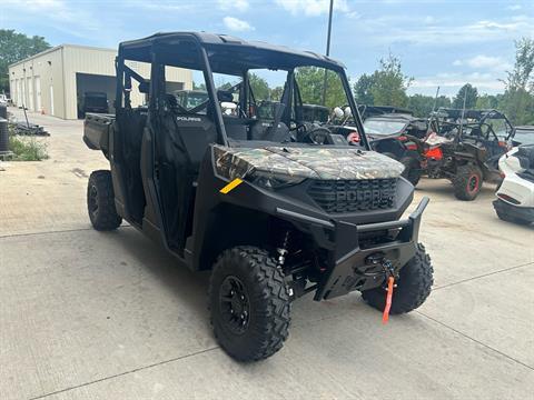
[[[355,148],[214,146],[217,172],[245,178],[253,172],[322,180],[398,178],[404,166],[387,156]]]

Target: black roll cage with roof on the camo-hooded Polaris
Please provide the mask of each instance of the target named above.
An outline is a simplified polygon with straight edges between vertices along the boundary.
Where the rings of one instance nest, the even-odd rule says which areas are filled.
[[[176,53],[171,53],[172,56],[169,58],[169,51],[164,54],[164,50],[169,50],[171,46],[180,46],[187,44],[189,47],[188,50],[192,50],[188,54],[184,54],[184,62],[177,62]],[[219,101],[217,101],[217,88],[214,82],[214,69],[211,68],[210,57],[217,53],[217,49],[224,49],[221,52],[233,52],[239,49],[246,53],[250,51],[251,57],[250,60],[239,60],[240,64],[248,67],[241,68],[239,73],[236,74],[237,70],[231,70],[231,72],[226,71],[225,69],[234,67],[239,67],[239,62],[233,63],[233,60],[225,61],[225,64],[220,68],[222,70],[221,73],[231,73],[236,76],[240,76],[244,79],[244,87],[248,88],[248,71],[254,69],[281,69],[288,72],[288,77],[286,80],[286,86],[284,93],[288,91],[288,99],[300,99],[300,92],[298,88],[296,89],[294,82],[294,69],[296,67],[319,67],[325,68],[326,70],[332,70],[337,72],[338,77],[342,80],[343,88],[345,94],[348,99],[348,106],[350,107],[353,119],[356,124],[358,132],[360,133],[362,144],[366,149],[370,149],[368,140],[365,136],[362,118],[359,114],[358,107],[352,96],[350,86],[348,83],[347,77],[345,74],[344,66],[327,58],[324,56],[318,56],[312,52],[299,52],[293,51],[290,49],[284,47],[275,47],[266,43],[259,42],[250,42],[247,43],[241,41],[240,39],[230,38],[226,36],[216,36],[209,33],[191,33],[191,32],[184,32],[184,33],[158,33],[152,37],[148,37],[140,40],[135,40],[130,42],[122,42],[119,44],[119,52],[116,58],[116,70],[117,70],[117,96],[116,96],[116,110],[119,113],[122,108],[128,108],[130,106],[130,97],[129,92],[131,91],[131,78],[138,80],[140,83],[144,84],[152,82],[160,82],[160,78],[162,69],[159,68],[160,66],[172,66],[172,67],[181,67],[181,68],[190,68],[198,71],[201,71],[206,82],[206,90],[208,92],[208,97],[211,101],[211,106],[214,108],[214,119],[215,126],[217,129],[217,142],[219,144],[229,146],[228,136],[226,133],[225,123],[222,119],[222,110],[220,108]],[[195,54],[195,52],[197,52]],[[257,54],[256,54],[257,53]],[[276,68],[273,61],[267,63],[265,60],[268,60],[268,56],[271,54],[274,59],[283,61],[280,62],[280,67]],[[198,59],[195,60],[195,57],[199,56]],[[263,57],[260,61],[255,62],[255,56]],[[166,58],[167,57],[167,58]],[[220,57],[220,56],[219,56]],[[131,68],[125,64],[125,61],[141,61],[141,62],[150,62],[150,81],[147,81],[142,78],[139,73],[134,71]],[[172,62],[170,62],[172,61]],[[220,60],[218,61],[220,64]],[[215,72],[219,72],[218,70]],[[156,112],[159,108],[160,99],[160,88],[159,84],[149,84],[149,110]],[[286,94],[284,94],[286,96]],[[122,103],[122,98],[125,99]],[[243,101],[244,104],[248,100],[248,90],[244,90]],[[289,101],[290,104],[290,101]],[[291,113],[291,107],[286,107],[284,111],[284,118],[289,117]],[[297,117],[297,116],[296,116]]]

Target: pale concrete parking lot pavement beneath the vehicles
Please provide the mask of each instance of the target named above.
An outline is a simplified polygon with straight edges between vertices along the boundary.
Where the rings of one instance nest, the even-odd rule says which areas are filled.
[[[10,110],[18,113],[17,110]],[[0,171],[0,399],[524,399],[534,392],[534,226],[498,220],[445,180],[421,241],[435,287],[382,324],[358,293],[299,299],[284,349],[251,364],[216,344],[207,274],[123,224],[90,228],[82,122],[30,114],[50,159]],[[224,234],[224,231],[221,231]],[[532,394],[531,394],[532,396]]]

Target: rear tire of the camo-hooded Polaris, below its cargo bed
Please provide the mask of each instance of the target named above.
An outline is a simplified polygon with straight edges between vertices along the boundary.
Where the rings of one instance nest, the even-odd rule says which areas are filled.
[[[110,171],[93,171],[89,177],[87,209],[91,224],[96,230],[113,230],[122,222],[122,218],[115,208],[115,192]]]

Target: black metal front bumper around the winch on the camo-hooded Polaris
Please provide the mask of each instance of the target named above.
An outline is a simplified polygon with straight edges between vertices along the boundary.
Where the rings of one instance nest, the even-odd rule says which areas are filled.
[[[336,246],[332,251],[327,272],[318,282],[314,300],[332,299],[383,284],[387,273],[382,264],[370,262],[376,258],[390,262],[393,273],[398,274],[415,256],[421,218],[428,201],[427,197],[423,198],[415,211],[404,220],[360,226],[334,221]],[[368,244],[360,240],[373,232],[393,232],[394,237],[378,244]]]

